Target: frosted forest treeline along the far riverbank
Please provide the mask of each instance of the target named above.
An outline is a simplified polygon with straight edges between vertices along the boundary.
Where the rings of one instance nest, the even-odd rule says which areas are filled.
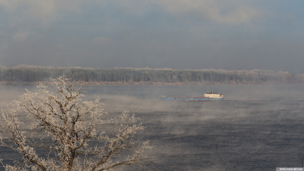
[[[220,83],[304,83],[304,74],[268,70],[227,71],[223,69],[170,69],[170,68],[68,68],[18,65],[0,66],[0,82],[44,82],[60,75],[84,82],[220,82]]]

